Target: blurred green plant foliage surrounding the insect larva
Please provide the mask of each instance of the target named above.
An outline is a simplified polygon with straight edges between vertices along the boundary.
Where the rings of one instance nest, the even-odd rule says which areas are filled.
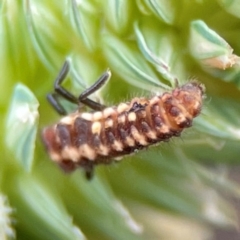
[[[239,239],[239,11],[239,0],[1,0],[0,239]],[[76,96],[107,68],[93,96],[106,105],[196,78],[202,114],[90,182],[65,174],[39,136],[59,119],[46,94],[66,58]]]

